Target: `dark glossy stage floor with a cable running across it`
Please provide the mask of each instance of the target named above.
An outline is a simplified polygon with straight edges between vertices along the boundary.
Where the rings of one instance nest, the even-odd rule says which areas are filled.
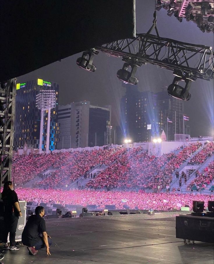
[[[183,212],[182,212],[183,213]],[[46,220],[51,256],[27,248],[4,252],[4,264],[111,263],[213,264],[213,244],[184,245],[175,237],[176,212]]]

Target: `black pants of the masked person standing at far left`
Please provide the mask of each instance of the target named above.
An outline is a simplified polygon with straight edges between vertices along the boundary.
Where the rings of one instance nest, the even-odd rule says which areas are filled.
[[[10,247],[16,245],[15,236],[16,236],[16,229],[18,224],[19,217],[11,214],[11,215],[4,215],[4,233],[2,236],[2,242],[7,243],[8,240],[8,233],[10,232]]]

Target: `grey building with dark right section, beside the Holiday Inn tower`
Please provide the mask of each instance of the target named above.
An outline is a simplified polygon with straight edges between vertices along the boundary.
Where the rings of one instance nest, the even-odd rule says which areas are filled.
[[[58,149],[108,145],[111,138],[111,106],[80,101],[59,106]]]

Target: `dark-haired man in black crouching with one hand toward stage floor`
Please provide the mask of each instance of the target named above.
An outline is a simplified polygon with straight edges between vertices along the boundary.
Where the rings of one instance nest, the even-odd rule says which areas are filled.
[[[49,246],[52,244],[51,237],[46,233],[45,208],[37,206],[35,215],[31,215],[22,233],[22,244],[27,246],[29,254],[36,255],[39,249],[46,247],[47,255],[50,255]]]

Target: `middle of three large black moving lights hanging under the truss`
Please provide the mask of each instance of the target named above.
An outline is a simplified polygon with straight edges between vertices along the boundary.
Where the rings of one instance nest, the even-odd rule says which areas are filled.
[[[131,67],[131,72],[128,71],[128,68]],[[137,71],[137,65],[124,63],[123,68],[117,72],[117,78],[124,83],[130,83],[136,85],[138,79],[135,77]]]

